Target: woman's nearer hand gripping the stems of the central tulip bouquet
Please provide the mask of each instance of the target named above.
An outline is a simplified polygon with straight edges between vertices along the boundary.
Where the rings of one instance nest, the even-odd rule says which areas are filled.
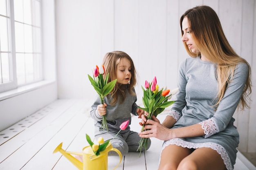
[[[143,116],[141,117],[144,119]],[[139,124],[142,124],[142,122]],[[144,131],[139,133],[139,137],[155,137],[160,140],[169,140],[171,139],[171,129],[160,124],[160,121],[153,115],[152,120],[146,120]]]

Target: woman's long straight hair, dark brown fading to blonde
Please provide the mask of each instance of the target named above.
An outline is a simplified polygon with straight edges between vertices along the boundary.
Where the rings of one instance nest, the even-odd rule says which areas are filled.
[[[236,66],[239,63],[246,63],[248,65],[249,74],[238,108],[240,110],[244,110],[245,107],[249,108],[248,99],[250,100],[249,95],[252,93],[251,68],[248,62],[241,58],[230,46],[216,12],[208,6],[197,6],[187,10],[180,18],[182,36],[184,34],[182,31],[182,21],[185,17],[188,19],[191,36],[193,36],[199,51],[209,61],[216,63],[216,77],[218,80],[217,102],[214,105],[216,109],[220,104],[227,85],[232,81]],[[191,57],[200,55],[200,52],[193,53],[186,45],[186,42],[184,42],[184,46]]]

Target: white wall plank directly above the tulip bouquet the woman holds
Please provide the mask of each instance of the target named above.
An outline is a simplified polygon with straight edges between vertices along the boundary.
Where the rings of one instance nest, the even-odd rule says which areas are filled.
[[[141,85],[157,77],[166,85],[166,1],[139,1],[139,75]],[[139,92],[142,93],[141,88]]]

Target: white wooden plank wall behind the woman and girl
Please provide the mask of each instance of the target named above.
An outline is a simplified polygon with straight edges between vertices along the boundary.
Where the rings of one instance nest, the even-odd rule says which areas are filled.
[[[154,76],[160,86],[175,88],[178,65],[189,57],[179,19],[201,4],[216,10],[230,44],[251,64],[255,84],[255,0],[56,0],[58,97],[94,97],[87,74],[114,50],[125,51],[135,62],[139,100],[140,86]],[[234,116],[242,152],[256,152],[255,100],[252,95],[251,110]]]

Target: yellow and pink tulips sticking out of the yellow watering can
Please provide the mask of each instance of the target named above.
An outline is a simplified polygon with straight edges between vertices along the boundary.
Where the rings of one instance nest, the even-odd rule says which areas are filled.
[[[125,129],[127,128],[129,122],[130,122],[129,120],[124,121],[124,122],[119,126],[120,130],[119,130],[119,132],[117,133],[117,135],[120,133],[121,130],[125,130]],[[115,137],[116,137],[117,135],[115,135]],[[115,137],[114,137],[113,139],[115,139]],[[112,139],[112,140],[113,140],[113,139]],[[92,148],[92,151],[94,152],[94,154],[95,154],[96,156],[100,155],[100,152],[103,151],[103,150],[105,150],[105,149],[107,148],[109,142],[110,142],[110,140],[107,140],[107,141],[104,142],[103,137],[99,137],[99,139],[98,139],[98,144],[94,144],[94,143],[92,142],[91,138],[89,137],[89,135],[87,135],[87,134],[86,134],[86,140],[88,141],[89,145],[90,145],[91,148]]]

